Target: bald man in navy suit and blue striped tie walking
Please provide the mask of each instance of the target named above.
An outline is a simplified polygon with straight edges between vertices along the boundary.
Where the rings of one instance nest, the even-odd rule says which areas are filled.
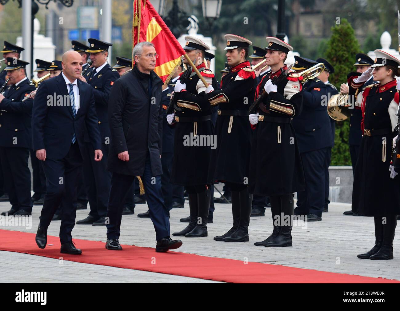
[[[46,195],[36,243],[46,247],[47,227],[60,205],[61,253],[80,254],[71,232],[76,217],[76,183],[84,152],[84,126],[94,149],[95,161],[101,161],[100,131],[94,92],[82,82],[82,57],[68,51],[62,57],[62,74],[44,81],[36,93],[32,112],[33,149],[46,174]],[[62,105],[60,105],[60,103]]]

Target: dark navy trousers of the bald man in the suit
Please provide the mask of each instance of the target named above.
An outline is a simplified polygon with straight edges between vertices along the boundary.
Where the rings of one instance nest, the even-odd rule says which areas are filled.
[[[94,154],[93,154],[94,158]],[[82,167],[82,156],[78,143],[71,148],[61,160],[47,158],[42,161],[44,174],[46,175],[46,195],[40,217],[40,225],[48,227],[51,219],[63,201],[61,209],[60,242],[61,244],[72,241],[72,229],[76,218],[76,183],[79,170]]]

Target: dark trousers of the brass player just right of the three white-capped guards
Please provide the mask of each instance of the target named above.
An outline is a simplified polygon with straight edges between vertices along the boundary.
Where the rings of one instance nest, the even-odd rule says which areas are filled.
[[[304,179],[306,189],[297,193],[296,215],[315,214],[322,216],[325,203],[325,158],[328,148],[303,152]]]

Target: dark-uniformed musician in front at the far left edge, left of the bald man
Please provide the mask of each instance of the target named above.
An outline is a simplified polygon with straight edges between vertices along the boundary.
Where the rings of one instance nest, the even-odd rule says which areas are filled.
[[[28,62],[8,57],[4,70],[11,85],[0,94],[0,157],[10,198],[8,215],[32,215],[30,195],[29,150],[32,149],[33,100],[22,99],[35,90],[26,77]],[[5,213],[2,213],[5,215]]]

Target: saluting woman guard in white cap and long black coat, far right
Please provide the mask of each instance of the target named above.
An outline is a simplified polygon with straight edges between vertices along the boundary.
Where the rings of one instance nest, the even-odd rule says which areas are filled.
[[[397,134],[399,91],[395,76],[400,75],[400,60],[382,50],[375,50],[375,55],[371,68],[361,75],[348,75],[349,95],[356,97],[356,104],[361,101],[363,133],[354,171],[352,211],[373,216],[375,224],[374,247],[357,257],[386,260],[393,259],[394,231],[400,214],[400,178],[390,164],[392,140]],[[379,84],[370,84],[360,94],[370,77]]]

